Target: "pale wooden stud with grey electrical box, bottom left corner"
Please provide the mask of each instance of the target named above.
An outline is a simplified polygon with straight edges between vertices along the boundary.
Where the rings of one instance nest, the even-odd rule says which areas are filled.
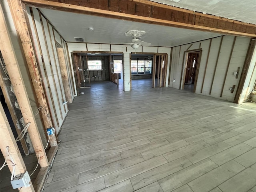
[[[22,173],[26,172],[26,165],[22,159],[22,156],[20,154],[20,150],[18,148],[18,145],[15,141],[15,138],[13,136],[12,133],[12,129],[10,127],[10,124],[8,122],[8,119],[4,113],[4,108],[2,106],[2,104],[0,104],[0,149],[1,152],[4,156],[4,158],[10,160],[9,157],[7,157],[6,154],[6,146],[8,146],[8,152],[10,153],[10,155],[12,156],[14,163],[16,164],[15,166],[15,171],[16,171],[16,175],[20,175]],[[40,157],[41,157],[40,153]],[[10,161],[7,160],[7,164],[9,167],[10,172],[12,172],[13,166],[12,164],[10,164]],[[20,192],[34,192],[34,187],[32,185],[32,182],[30,181],[30,186],[29,187],[22,187],[19,190]]]

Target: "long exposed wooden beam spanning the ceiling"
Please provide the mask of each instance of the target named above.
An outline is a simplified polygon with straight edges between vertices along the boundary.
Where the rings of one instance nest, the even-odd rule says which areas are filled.
[[[23,0],[28,6],[236,36],[256,36],[256,25],[158,4],[148,0]]]

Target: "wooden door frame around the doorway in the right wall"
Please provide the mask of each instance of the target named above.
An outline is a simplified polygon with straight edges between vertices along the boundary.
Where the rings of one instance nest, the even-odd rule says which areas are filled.
[[[196,64],[196,75],[195,75],[195,82],[194,82],[194,90],[193,92],[196,92],[196,84],[197,84],[197,79],[198,79],[198,74],[199,74],[199,68],[200,68],[200,63],[201,63],[201,57],[202,57],[202,49],[193,49],[193,50],[186,50],[184,51],[183,54],[183,65],[182,65],[182,71],[181,71],[181,76],[180,76],[180,89],[184,89],[184,85],[185,85],[185,77],[186,77],[186,67],[188,64],[188,54],[192,53],[192,52],[199,52],[198,55],[198,61]]]

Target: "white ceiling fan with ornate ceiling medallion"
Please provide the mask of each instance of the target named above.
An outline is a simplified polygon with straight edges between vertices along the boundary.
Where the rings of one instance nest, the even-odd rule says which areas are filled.
[[[144,42],[142,40],[139,40],[142,34],[145,34],[144,31],[137,31],[137,30],[130,30],[126,32],[125,36],[132,36],[132,42],[131,43],[122,43],[122,44],[128,44],[127,46],[131,46],[133,49],[137,49],[139,46],[150,46],[151,43]]]

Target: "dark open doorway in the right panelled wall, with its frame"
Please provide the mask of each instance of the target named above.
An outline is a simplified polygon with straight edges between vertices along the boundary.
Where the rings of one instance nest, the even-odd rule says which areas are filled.
[[[201,52],[202,50],[193,50],[184,53],[186,60],[183,68],[184,75],[181,89],[191,92],[196,91]]]

